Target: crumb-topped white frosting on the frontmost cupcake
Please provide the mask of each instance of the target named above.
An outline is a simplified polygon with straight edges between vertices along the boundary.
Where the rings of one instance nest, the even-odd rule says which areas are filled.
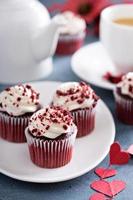
[[[47,107],[33,114],[28,128],[33,136],[54,139],[63,133],[70,133],[73,125],[73,118],[68,111]]]

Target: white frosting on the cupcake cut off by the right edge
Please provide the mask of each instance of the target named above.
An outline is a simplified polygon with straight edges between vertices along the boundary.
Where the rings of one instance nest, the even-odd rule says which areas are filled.
[[[121,94],[133,98],[133,72],[129,72],[122,77],[122,81],[117,84],[121,89]]]

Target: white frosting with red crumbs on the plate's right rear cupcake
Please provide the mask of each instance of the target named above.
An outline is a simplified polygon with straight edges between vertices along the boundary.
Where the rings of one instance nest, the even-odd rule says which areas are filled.
[[[69,111],[80,108],[92,108],[96,105],[98,97],[90,86],[84,82],[63,83],[56,90],[53,105],[61,106]]]

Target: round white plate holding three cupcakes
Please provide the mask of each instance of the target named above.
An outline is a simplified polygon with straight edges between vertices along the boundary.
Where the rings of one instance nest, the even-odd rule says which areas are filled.
[[[46,105],[51,102],[59,83],[36,82],[32,85],[41,93],[41,101]],[[103,101],[100,101],[95,130],[89,136],[76,140],[70,164],[57,169],[42,169],[31,162],[26,144],[14,144],[0,139],[0,172],[29,182],[51,183],[70,180],[96,167],[107,155],[114,136],[112,115]]]

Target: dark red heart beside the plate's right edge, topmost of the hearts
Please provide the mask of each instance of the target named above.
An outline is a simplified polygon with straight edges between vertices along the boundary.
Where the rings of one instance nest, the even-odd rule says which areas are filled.
[[[122,165],[127,164],[129,161],[129,154],[126,151],[121,150],[121,146],[118,142],[114,142],[110,147],[110,164]]]

